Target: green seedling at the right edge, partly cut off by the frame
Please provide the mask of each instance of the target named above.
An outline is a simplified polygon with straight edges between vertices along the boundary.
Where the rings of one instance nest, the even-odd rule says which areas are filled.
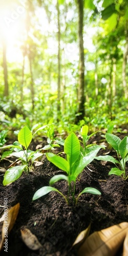
[[[128,136],[125,136],[122,140],[114,134],[106,133],[106,141],[114,148],[117,153],[118,160],[112,156],[98,156],[97,160],[109,161],[116,165],[109,172],[109,175],[115,174],[121,176],[124,180],[128,178],[125,174],[125,164],[128,161]],[[118,167],[119,166],[119,167]]]

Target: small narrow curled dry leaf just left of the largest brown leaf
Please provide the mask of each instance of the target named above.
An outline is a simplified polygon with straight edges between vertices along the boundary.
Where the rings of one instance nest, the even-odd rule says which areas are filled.
[[[90,232],[90,227],[91,227],[91,223],[85,230],[81,231],[78,234],[75,242],[72,245],[74,248],[78,249],[80,247],[80,245],[84,242],[84,240],[86,240],[88,238],[89,232]]]

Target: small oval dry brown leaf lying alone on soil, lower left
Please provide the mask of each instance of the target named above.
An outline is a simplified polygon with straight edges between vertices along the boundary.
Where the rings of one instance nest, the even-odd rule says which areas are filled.
[[[22,239],[24,243],[31,249],[31,250],[38,250],[42,247],[39,243],[37,237],[28,229],[20,229],[22,234]]]

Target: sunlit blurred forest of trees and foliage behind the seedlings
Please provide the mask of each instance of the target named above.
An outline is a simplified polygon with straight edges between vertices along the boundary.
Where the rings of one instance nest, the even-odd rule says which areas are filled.
[[[128,122],[127,0],[1,1],[0,61],[1,131]]]

